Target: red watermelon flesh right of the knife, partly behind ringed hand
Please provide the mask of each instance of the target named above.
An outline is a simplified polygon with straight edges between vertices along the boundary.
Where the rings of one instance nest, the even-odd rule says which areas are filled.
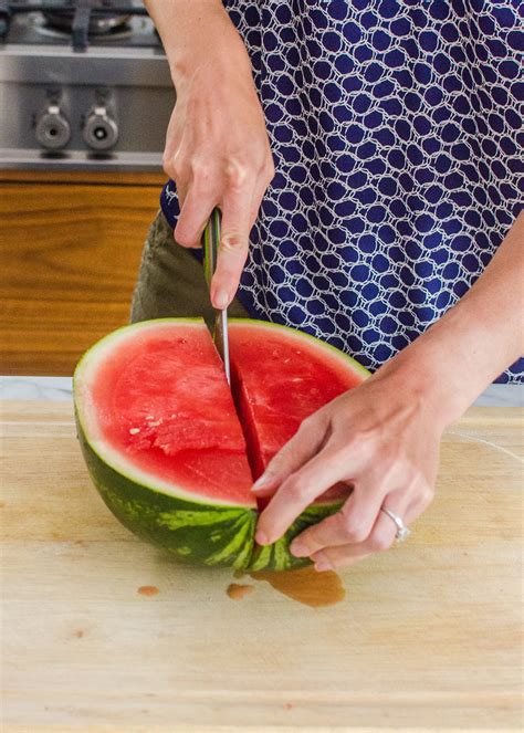
[[[273,455],[292,438],[304,418],[338,395],[361,383],[361,374],[347,368],[347,360],[304,334],[293,338],[290,329],[258,324],[253,338],[250,322],[232,324],[230,350],[233,394],[248,442],[254,478],[263,473]],[[292,333],[292,332],[291,332]],[[319,501],[347,495],[339,484]]]

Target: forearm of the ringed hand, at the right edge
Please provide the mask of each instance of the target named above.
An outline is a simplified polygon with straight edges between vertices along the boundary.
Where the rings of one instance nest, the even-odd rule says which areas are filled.
[[[459,303],[379,371],[409,380],[448,425],[524,353],[523,283],[524,212]]]

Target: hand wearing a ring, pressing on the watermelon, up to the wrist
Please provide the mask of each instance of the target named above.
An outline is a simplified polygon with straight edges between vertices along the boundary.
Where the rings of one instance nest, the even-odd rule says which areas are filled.
[[[353,492],[337,514],[295,537],[291,552],[317,570],[350,565],[387,549],[433,498],[444,420],[429,392],[392,363],[305,419],[253,486],[272,496],[256,542],[279,540],[317,496],[337,482]]]

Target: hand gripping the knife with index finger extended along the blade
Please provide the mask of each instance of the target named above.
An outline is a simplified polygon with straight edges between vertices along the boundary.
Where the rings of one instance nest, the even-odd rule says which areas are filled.
[[[200,27],[190,57],[171,71],[177,103],[164,169],[175,180],[180,201],[175,240],[200,247],[212,209],[221,209],[211,301],[224,308],[237,292],[249,234],[274,176],[264,115],[244,44],[223,9]]]

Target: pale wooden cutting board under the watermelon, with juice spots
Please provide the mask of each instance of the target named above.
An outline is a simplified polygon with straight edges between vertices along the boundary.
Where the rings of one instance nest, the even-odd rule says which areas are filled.
[[[522,410],[455,422],[410,540],[319,607],[129,534],[91,485],[70,402],[1,417],[6,733],[521,726]],[[232,582],[254,590],[232,600]],[[310,601],[331,593],[304,584]]]

